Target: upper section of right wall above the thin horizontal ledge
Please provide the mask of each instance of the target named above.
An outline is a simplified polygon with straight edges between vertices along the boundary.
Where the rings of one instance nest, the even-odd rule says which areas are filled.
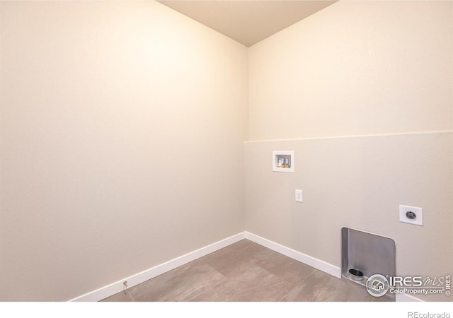
[[[452,129],[452,11],[339,1],[253,45],[250,140]]]

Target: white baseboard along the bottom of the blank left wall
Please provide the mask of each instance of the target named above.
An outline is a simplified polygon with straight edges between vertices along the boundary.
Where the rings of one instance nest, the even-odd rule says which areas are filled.
[[[171,271],[172,269],[176,269],[176,267],[187,264],[190,261],[194,261],[195,259],[204,257],[207,254],[217,251],[217,249],[222,249],[223,247],[226,247],[233,243],[239,242],[240,240],[243,240],[245,237],[246,237],[246,232],[241,232],[239,234],[228,237],[224,240],[220,240],[219,242],[215,242],[211,245],[207,245],[205,247],[197,249],[197,250],[190,252],[188,254],[185,254],[181,257],[177,257],[176,259],[172,259],[171,261],[166,261],[164,264],[154,266],[151,269],[142,271],[141,273],[136,273],[132,276],[123,278],[120,281],[111,283],[110,285],[106,285],[97,290],[93,290],[90,293],[86,293],[85,295],[81,295],[81,296],[71,299],[69,301],[70,302],[97,302],[99,300],[103,300],[104,298],[108,298],[111,295],[115,295],[116,293],[120,293],[120,291],[125,290],[125,285],[123,284],[124,281],[127,281],[127,287],[131,288],[134,285],[138,285],[139,283],[148,281],[151,278],[154,278],[163,273],[166,273],[167,271]]]

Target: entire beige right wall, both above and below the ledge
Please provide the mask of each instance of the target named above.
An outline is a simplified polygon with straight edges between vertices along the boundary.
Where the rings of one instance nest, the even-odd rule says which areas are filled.
[[[248,232],[340,266],[340,229],[356,228],[394,238],[398,275],[452,273],[452,16],[340,1],[249,48]],[[294,174],[272,171],[279,150]],[[399,204],[423,207],[423,227]]]

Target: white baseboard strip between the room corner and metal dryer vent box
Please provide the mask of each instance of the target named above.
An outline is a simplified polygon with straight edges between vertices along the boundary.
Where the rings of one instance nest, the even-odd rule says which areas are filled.
[[[256,242],[259,245],[263,245],[264,247],[268,247],[268,249],[273,249],[275,252],[279,252],[280,254],[295,259],[296,261],[301,261],[302,263],[314,267],[315,269],[319,269],[320,271],[331,274],[336,278],[341,278],[340,267],[333,266],[332,264],[328,264],[325,261],[315,259],[314,257],[303,254],[301,252],[297,252],[294,249],[290,249],[289,247],[285,247],[258,235],[254,235],[250,232],[246,232],[246,239],[251,240],[252,242]]]

